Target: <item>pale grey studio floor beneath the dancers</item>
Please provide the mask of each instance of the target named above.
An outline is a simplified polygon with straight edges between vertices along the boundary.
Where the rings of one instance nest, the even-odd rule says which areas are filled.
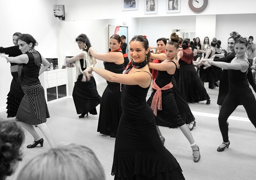
[[[98,85],[100,95],[105,86],[106,84]],[[198,163],[193,162],[190,144],[179,128],[160,127],[165,137],[165,147],[179,162],[186,179],[255,180],[255,127],[248,120],[244,108],[239,106],[228,120],[230,146],[225,151],[218,152],[217,148],[222,142],[218,125],[219,108],[216,104],[219,89],[208,89],[207,84],[205,87],[211,98],[211,104],[206,105],[206,101],[189,104],[196,117],[196,127],[191,133],[200,147],[201,160]],[[148,92],[149,95],[150,92]],[[113,179],[111,168],[115,138],[97,133],[98,115],[89,114],[88,117],[78,118],[72,98],[50,102],[48,108],[51,118],[48,119],[47,124],[51,128],[56,143],[77,143],[90,147],[104,167],[106,180]],[[99,112],[99,106],[97,110]],[[6,113],[0,113],[0,117],[6,117]],[[36,131],[42,136],[37,128]],[[50,148],[45,139],[44,147],[27,149],[26,145],[32,142],[32,136],[27,133],[23,149],[24,160],[20,162],[17,172],[8,179],[17,179],[17,174],[24,164]]]

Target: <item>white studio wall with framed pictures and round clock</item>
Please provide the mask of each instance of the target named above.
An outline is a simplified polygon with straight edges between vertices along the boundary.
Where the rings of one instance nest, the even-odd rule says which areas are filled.
[[[53,16],[53,5],[65,5],[66,20]],[[146,35],[150,45],[155,46],[159,37],[167,37],[169,29],[198,29],[201,39],[207,34],[215,36],[226,47],[231,31],[243,36],[254,36],[256,41],[256,1],[247,0],[241,5],[238,0],[209,1],[202,13],[188,8],[188,1],[181,0],[180,13],[166,13],[166,0],[158,0],[158,14],[144,14],[144,1],[139,0],[138,11],[121,11],[120,0],[9,0],[0,1],[0,46],[12,46],[14,32],[29,33],[38,41],[36,49],[46,58],[75,55],[79,49],[75,37],[86,33],[93,46],[101,53],[108,49],[108,24],[123,25],[127,21],[128,39],[134,35]],[[245,7],[245,8],[241,8]],[[234,14],[236,13],[236,14]],[[209,20],[207,17],[210,17]],[[99,62],[99,66],[102,66]],[[10,88],[10,65],[0,66],[0,111],[6,111],[6,98]],[[97,82],[103,81],[95,76]]]

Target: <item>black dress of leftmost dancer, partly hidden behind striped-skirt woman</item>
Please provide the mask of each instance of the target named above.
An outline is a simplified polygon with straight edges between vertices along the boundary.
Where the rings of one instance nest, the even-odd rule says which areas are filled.
[[[16,57],[22,55],[22,52],[19,50],[18,46],[11,46],[0,48],[0,53],[5,53],[9,55],[9,57]],[[11,63],[11,74],[12,74],[12,82],[10,86],[10,91],[7,94],[7,117],[15,117],[18,111],[18,107],[22,98],[24,97],[24,92],[22,90],[22,86],[18,81],[18,64]]]

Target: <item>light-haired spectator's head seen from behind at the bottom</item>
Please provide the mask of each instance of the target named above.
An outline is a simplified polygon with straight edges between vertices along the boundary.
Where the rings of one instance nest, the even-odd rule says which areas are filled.
[[[30,160],[19,180],[104,180],[104,170],[94,152],[83,145],[69,144],[50,149]]]

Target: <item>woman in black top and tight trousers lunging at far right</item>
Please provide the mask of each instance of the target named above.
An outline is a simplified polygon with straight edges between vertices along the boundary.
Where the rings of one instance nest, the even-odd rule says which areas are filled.
[[[228,75],[228,94],[222,104],[219,114],[219,126],[223,138],[223,143],[217,151],[224,151],[230,145],[228,139],[227,119],[236,108],[242,104],[246,110],[249,120],[256,127],[256,99],[249,87],[246,74],[249,68],[249,62],[246,57],[248,41],[245,38],[237,38],[234,42],[234,52],[237,57],[230,63],[208,61],[210,65],[227,69]]]

